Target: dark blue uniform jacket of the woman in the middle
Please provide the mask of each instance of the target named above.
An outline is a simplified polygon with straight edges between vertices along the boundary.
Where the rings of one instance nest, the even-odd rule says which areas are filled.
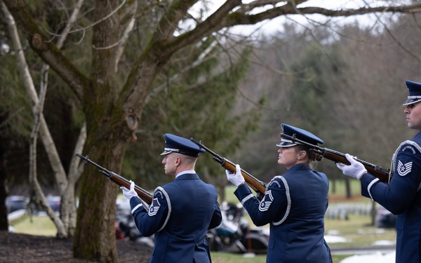
[[[266,262],[332,262],[323,237],[328,189],[326,175],[304,164],[274,177],[260,202],[246,184],[236,189],[253,223],[270,224]]]

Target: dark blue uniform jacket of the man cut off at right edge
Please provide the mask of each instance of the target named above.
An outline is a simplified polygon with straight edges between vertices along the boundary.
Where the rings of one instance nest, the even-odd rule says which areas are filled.
[[[361,194],[380,203],[396,219],[396,263],[421,262],[421,133],[402,142],[392,159],[389,184],[366,173]]]

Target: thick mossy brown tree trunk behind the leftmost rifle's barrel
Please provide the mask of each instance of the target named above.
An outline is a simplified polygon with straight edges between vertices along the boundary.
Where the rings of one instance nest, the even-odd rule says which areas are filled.
[[[119,4],[118,0],[97,1],[93,11],[93,20],[101,22],[93,26],[91,85],[86,87],[83,97],[87,120],[85,154],[115,173],[121,170],[128,137],[133,133],[127,132],[123,111],[116,103],[119,92],[115,81],[118,16],[104,19],[104,14],[114,13]],[[114,229],[118,190],[119,187],[98,173],[97,168],[85,166],[81,176],[74,257],[93,262],[118,261]]]

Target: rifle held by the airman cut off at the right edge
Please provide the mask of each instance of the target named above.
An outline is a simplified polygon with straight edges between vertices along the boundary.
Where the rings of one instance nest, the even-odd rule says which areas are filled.
[[[295,137],[295,135],[290,136],[286,135],[285,133],[281,133],[280,136],[293,142],[303,144],[306,147],[308,147],[310,151],[314,152],[315,154],[319,154],[320,156],[330,161],[334,161],[335,163],[344,163],[346,165],[350,164],[347,158],[345,157],[345,154],[342,154],[339,151],[333,151],[331,149],[322,148],[318,145],[299,140],[297,139],[297,137]],[[380,166],[377,166],[373,163],[368,163],[366,161],[362,161],[360,159],[355,159],[355,161],[362,163],[364,168],[366,168],[366,170],[368,171],[368,173],[379,178],[382,182],[386,182],[387,184],[389,184],[390,180],[392,179],[393,171],[390,169],[381,168]]]

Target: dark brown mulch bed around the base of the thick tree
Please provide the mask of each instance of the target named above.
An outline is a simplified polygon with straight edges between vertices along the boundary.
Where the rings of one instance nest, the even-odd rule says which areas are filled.
[[[74,259],[72,240],[60,240],[53,236],[32,236],[0,231],[1,263],[61,262],[86,263]],[[152,248],[133,241],[117,241],[119,262],[149,262]]]

